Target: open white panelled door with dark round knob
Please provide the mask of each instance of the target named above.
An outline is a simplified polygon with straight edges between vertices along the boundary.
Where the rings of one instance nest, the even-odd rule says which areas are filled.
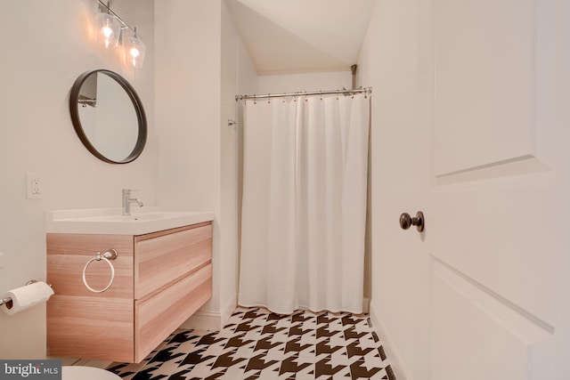
[[[570,1],[428,3],[425,378],[570,379]]]

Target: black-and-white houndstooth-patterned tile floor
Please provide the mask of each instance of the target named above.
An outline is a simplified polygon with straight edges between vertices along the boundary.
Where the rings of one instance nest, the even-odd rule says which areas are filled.
[[[263,308],[238,308],[221,331],[177,330],[141,363],[107,369],[126,380],[395,380],[370,319]]]

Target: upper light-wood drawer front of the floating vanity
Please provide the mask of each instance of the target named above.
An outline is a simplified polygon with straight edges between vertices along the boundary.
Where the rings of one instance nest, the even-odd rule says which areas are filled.
[[[137,236],[134,255],[134,299],[142,299],[212,259],[212,224]]]

